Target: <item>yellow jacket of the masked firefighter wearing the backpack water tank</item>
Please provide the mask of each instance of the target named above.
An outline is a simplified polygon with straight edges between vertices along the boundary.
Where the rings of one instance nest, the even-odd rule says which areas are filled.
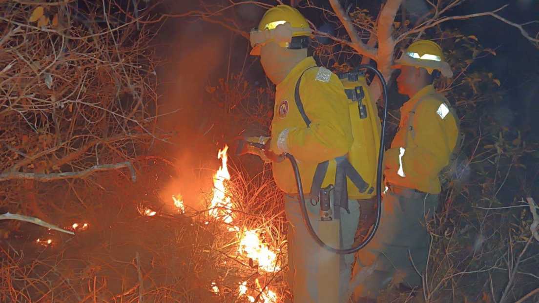
[[[309,127],[301,117],[294,98],[296,82],[304,71],[299,93],[303,109],[311,121]],[[303,192],[310,192],[316,166],[326,160],[330,161],[322,187],[333,184],[336,164],[332,159],[346,154],[354,142],[348,98],[337,75],[317,67],[312,57],[296,65],[277,85],[271,140],[272,151],[291,153],[298,161]],[[273,163],[273,177],[285,193],[298,192],[288,159]]]

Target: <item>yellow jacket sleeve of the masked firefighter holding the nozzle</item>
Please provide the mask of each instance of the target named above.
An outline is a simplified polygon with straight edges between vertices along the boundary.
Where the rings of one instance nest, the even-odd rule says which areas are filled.
[[[329,82],[312,80],[301,85],[301,101],[311,124],[291,128],[277,138],[277,152],[289,152],[302,163],[321,163],[343,156],[354,142],[348,98],[331,75]],[[273,145],[273,141],[272,141]]]

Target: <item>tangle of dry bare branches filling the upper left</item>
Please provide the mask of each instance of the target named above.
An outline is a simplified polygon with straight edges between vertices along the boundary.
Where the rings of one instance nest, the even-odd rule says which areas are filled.
[[[156,130],[155,32],[114,2],[4,1],[0,10],[0,209],[50,220],[36,192],[68,194],[66,181],[34,180],[111,169],[136,177],[134,161],[167,138]]]

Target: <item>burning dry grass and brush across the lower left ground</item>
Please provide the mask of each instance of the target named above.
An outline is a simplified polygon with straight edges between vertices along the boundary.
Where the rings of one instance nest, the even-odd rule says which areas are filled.
[[[179,195],[157,199],[164,181],[149,178],[123,192],[110,185],[95,197],[106,203],[72,207],[69,218],[54,222],[75,236],[21,224],[0,243],[0,301],[282,301],[288,294],[280,193],[268,171],[248,177],[225,165],[226,149],[219,154],[206,209]],[[156,162],[145,175],[163,169]],[[109,174],[102,178],[117,176]],[[171,205],[173,211],[165,207]]]

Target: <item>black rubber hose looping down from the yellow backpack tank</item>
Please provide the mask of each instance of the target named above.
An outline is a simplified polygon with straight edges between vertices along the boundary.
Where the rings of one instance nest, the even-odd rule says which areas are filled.
[[[376,222],[374,223],[374,227],[372,228],[372,231],[370,232],[369,236],[363,240],[360,244],[357,246],[353,246],[348,249],[335,249],[331,246],[328,246],[326,243],[320,239],[318,235],[316,235],[316,232],[313,229],[312,224],[310,224],[309,215],[307,214],[307,205],[305,205],[305,196],[303,196],[303,186],[301,184],[301,176],[300,171],[298,168],[298,163],[296,162],[296,159],[294,156],[292,156],[289,153],[285,154],[285,157],[290,160],[290,163],[292,164],[292,168],[294,169],[294,176],[296,178],[296,187],[298,188],[298,195],[300,198],[300,205],[301,205],[301,215],[303,217],[303,222],[305,223],[305,226],[307,227],[307,230],[309,231],[310,236],[314,239],[314,241],[322,246],[324,249],[337,253],[338,255],[349,255],[350,253],[355,253],[359,251],[360,249],[364,248],[369,244],[369,242],[372,240],[374,235],[376,234],[376,230],[378,229],[378,226],[380,224],[380,217],[382,216],[382,174],[383,174],[383,164],[384,164],[384,142],[385,142],[385,121],[388,117],[388,90],[386,87],[385,79],[382,73],[378,71],[375,67],[372,67],[370,65],[360,65],[354,69],[354,72],[359,71],[360,69],[370,69],[372,72],[376,74],[376,76],[380,79],[380,83],[382,83],[382,90],[384,94],[384,116],[383,116],[383,122],[382,122],[382,134],[380,136],[380,149],[378,151],[378,170],[376,172],[376,196],[377,196],[377,212],[376,212]],[[340,210],[339,210],[340,211]]]

